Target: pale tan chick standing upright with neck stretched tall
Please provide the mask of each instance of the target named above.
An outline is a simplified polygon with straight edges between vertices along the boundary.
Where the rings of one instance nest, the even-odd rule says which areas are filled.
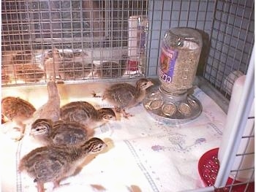
[[[61,99],[56,82],[50,81],[47,85],[48,101],[34,112],[34,119],[50,119],[56,121],[60,117]]]

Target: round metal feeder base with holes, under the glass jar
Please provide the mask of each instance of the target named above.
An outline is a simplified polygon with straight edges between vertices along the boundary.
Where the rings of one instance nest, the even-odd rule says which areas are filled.
[[[143,99],[143,107],[157,120],[175,125],[189,123],[202,112],[202,105],[195,96],[167,93],[161,87]]]

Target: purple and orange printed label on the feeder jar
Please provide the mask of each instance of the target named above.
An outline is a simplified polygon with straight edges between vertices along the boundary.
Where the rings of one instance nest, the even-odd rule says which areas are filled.
[[[159,77],[165,82],[173,81],[173,72],[177,56],[178,51],[162,46]]]

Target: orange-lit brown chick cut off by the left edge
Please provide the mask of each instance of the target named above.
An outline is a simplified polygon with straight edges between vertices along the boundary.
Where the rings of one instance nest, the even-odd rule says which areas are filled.
[[[2,119],[6,117],[8,120],[16,123],[20,131],[20,136],[15,138],[16,141],[23,138],[26,120],[32,118],[35,111],[36,109],[29,101],[19,97],[7,96],[1,99]]]

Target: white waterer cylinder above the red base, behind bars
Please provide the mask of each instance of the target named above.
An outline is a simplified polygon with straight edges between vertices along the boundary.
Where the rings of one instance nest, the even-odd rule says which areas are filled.
[[[243,88],[244,88],[244,82],[246,79],[246,75],[243,75],[241,77],[238,77],[236,82],[233,85],[233,90],[231,94],[231,99],[230,99],[230,105],[228,108],[227,112],[227,121],[225,124],[225,129],[223,131],[223,137],[222,137],[222,142],[219,147],[219,163],[222,164],[222,158],[223,155],[226,152],[227,144],[229,142],[229,137],[230,137],[230,132],[233,131],[233,123],[235,122],[236,118],[236,112],[238,111],[238,104],[241,99],[241,95],[243,93]],[[246,127],[244,129],[244,134],[241,139],[241,143],[238,147],[238,152],[237,154],[244,154],[244,153],[252,153],[249,155],[238,155],[236,156],[236,159],[234,161],[233,167],[231,170],[238,170],[238,169],[247,169],[244,171],[240,172],[232,172],[230,174],[230,177],[236,178],[236,180],[241,181],[241,182],[246,182],[250,180],[252,177],[252,174],[254,172],[253,169],[249,169],[254,167],[255,164],[255,139],[254,137],[249,137],[252,135],[254,131],[254,120],[255,120],[255,107],[254,107],[254,101],[252,104],[252,110],[249,114]],[[237,175],[236,175],[237,174]],[[252,180],[254,180],[254,176],[252,177]],[[252,181],[251,180],[251,181]]]

